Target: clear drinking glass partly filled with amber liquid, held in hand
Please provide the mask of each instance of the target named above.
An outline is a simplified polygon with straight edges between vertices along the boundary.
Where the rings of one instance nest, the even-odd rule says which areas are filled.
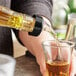
[[[74,43],[65,40],[59,42],[47,40],[42,45],[48,70],[47,76],[69,76]]]

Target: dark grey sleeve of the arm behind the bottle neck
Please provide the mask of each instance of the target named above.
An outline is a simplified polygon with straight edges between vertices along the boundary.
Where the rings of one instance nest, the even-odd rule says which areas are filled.
[[[43,15],[51,19],[52,0],[12,0],[11,9],[28,15]],[[18,31],[14,30],[17,38]],[[19,40],[19,38],[18,38]],[[20,40],[19,40],[20,41]]]

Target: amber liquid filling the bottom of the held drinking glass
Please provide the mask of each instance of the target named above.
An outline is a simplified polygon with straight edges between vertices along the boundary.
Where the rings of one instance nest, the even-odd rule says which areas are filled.
[[[48,76],[69,76],[69,64],[65,61],[47,62]]]

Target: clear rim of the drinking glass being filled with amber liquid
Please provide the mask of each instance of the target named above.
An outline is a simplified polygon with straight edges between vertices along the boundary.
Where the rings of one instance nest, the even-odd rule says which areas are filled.
[[[42,42],[42,45],[44,46],[50,46],[50,44],[46,44],[45,42],[55,42],[56,43],[56,41],[55,40],[46,40],[46,41],[43,41]],[[56,48],[58,48],[58,47],[74,47],[75,46],[75,43],[74,42],[72,42],[72,41],[66,41],[66,40],[59,40],[59,42],[62,42],[62,43],[67,43],[68,42],[68,44],[69,44],[69,46],[66,46],[66,45],[57,45],[57,46],[54,46],[54,45],[51,45],[51,47],[56,47]]]

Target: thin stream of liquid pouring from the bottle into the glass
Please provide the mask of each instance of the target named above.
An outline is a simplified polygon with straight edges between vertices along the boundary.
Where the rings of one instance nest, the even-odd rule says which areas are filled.
[[[45,21],[45,24],[47,24],[48,28],[45,27],[43,30],[49,32],[50,34],[52,34],[52,36],[54,37],[54,39],[56,41],[56,44],[57,44],[57,49],[58,49],[57,53],[58,54],[57,54],[56,59],[54,61],[61,61],[62,60],[61,52],[60,52],[61,48],[59,47],[60,46],[60,41],[58,40],[57,35],[56,35],[55,31],[53,30],[53,28],[50,26],[50,25],[53,25],[53,23],[50,22],[50,24],[48,24]]]

